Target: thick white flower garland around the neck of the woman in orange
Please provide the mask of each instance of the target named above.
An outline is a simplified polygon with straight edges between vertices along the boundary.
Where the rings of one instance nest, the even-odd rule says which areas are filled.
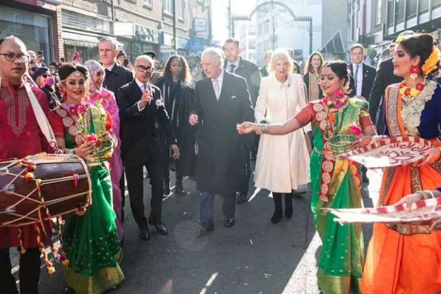
[[[403,103],[401,107],[401,120],[404,129],[409,136],[419,136],[417,127],[421,123],[421,112],[427,101],[432,99],[432,95],[437,88],[437,83],[429,81],[424,89],[410,102]]]

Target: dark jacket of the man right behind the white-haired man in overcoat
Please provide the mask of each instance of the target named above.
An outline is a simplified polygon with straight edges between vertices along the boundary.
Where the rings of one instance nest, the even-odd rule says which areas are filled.
[[[234,73],[245,78],[246,84],[248,85],[249,96],[254,107],[256,106],[256,100],[259,96],[261,79],[260,70],[259,67],[251,61],[244,60],[242,57],[239,57],[239,60],[239,67]],[[226,65],[227,61],[225,60],[223,67],[225,68]],[[229,69],[225,68],[225,71],[228,72]]]

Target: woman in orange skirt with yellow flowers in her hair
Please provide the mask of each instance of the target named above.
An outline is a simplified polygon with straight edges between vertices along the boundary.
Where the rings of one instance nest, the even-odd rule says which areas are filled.
[[[417,136],[440,147],[441,87],[426,76],[439,67],[440,51],[429,34],[398,37],[394,74],[404,77],[385,93],[385,134]],[[439,148],[421,166],[386,168],[378,206],[393,205],[408,194],[434,190],[441,183]],[[426,225],[373,227],[360,290],[363,294],[439,294],[441,232]]]

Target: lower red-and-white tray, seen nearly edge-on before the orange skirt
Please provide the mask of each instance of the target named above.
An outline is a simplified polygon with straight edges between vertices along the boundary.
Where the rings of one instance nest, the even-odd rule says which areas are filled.
[[[408,206],[410,206],[408,208]],[[346,222],[395,222],[430,223],[441,217],[441,198],[420,200],[411,204],[381,206],[377,208],[330,209],[324,211],[334,214],[334,221]]]

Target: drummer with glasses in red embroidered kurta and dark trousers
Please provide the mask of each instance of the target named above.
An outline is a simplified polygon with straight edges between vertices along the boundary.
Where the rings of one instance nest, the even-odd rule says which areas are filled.
[[[45,113],[49,112],[48,102],[43,91],[24,79],[28,59],[26,46],[20,39],[8,36],[0,40],[0,161],[50,151],[48,142],[39,129],[26,87],[30,87]],[[4,196],[5,194],[0,192],[0,201]],[[46,243],[45,234],[41,236],[41,241]],[[34,225],[0,227],[1,294],[18,293],[14,276],[11,274],[10,247],[19,247],[20,293],[37,294],[40,249]]]

